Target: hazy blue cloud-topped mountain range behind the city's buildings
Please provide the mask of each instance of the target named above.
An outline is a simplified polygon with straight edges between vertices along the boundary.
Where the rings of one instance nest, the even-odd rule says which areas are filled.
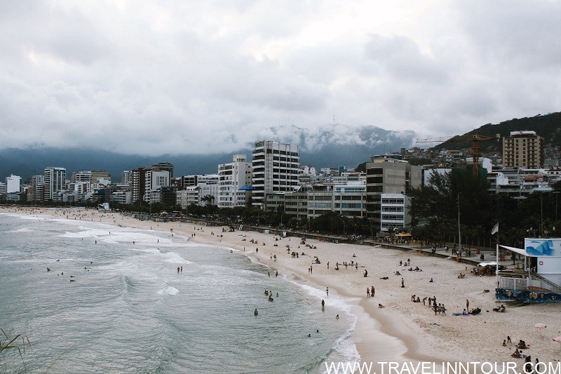
[[[281,129],[289,133],[286,129]],[[273,132],[274,133],[274,132]],[[330,124],[321,131],[306,131],[305,128],[291,128],[290,138],[276,136],[274,140],[299,145],[300,163],[316,168],[347,166],[354,168],[367,161],[374,154],[391,152],[400,147],[411,147],[419,135],[413,131],[388,131],[377,126],[344,128]],[[256,141],[259,139],[256,139]],[[26,180],[31,175],[43,174],[48,166],[67,169],[68,178],[72,171],[108,171],[112,180],[119,182],[121,172],[157,162],[174,165],[174,176],[189,174],[217,173],[219,163],[232,161],[233,154],[246,154],[251,161],[249,145],[231,153],[211,154],[161,154],[143,156],[118,154],[100,149],[81,148],[39,148],[0,149],[0,180],[8,175],[20,175]]]

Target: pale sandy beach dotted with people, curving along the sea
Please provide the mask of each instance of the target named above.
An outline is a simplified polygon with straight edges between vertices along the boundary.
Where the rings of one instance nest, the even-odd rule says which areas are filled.
[[[278,272],[279,276],[323,291],[329,288],[329,295],[326,292],[324,299],[325,313],[330,313],[330,296],[345,298],[351,305],[351,313],[358,318],[351,339],[363,362],[514,361],[521,367],[524,360],[511,357],[519,340],[529,345],[524,353],[532,355],[534,362],[538,358],[541,362],[557,363],[561,358],[560,343],[553,341],[561,335],[560,303],[505,304],[506,312],[494,312],[493,308],[500,305],[494,299],[494,276],[474,276],[471,267],[466,269],[462,263],[419,253],[414,248],[400,251],[313,239],[307,239],[304,245],[299,237],[228,232],[227,227],[223,232],[222,227],[140,221],[119,213],[83,209],[6,207],[0,212],[156,229],[184,235],[191,241],[233,248],[252,261],[270,267],[271,274]],[[292,257],[292,252],[299,253],[298,257]],[[313,263],[316,256],[320,264]],[[343,265],[345,262],[348,266]],[[409,263],[405,265],[406,262]],[[421,271],[408,270],[416,267]],[[460,273],[466,274],[465,278],[459,279]],[[374,296],[368,297],[367,288],[372,287]],[[412,302],[412,295],[418,296],[421,302]],[[433,297],[437,304],[445,305],[446,315],[435,314],[428,306],[428,298]],[[422,302],[424,298],[426,302]],[[454,316],[466,308],[466,300],[469,309],[480,307],[482,312],[475,316]],[[379,304],[384,307],[379,308]],[[535,328],[536,323],[547,327]],[[513,344],[503,346],[507,335]]]

